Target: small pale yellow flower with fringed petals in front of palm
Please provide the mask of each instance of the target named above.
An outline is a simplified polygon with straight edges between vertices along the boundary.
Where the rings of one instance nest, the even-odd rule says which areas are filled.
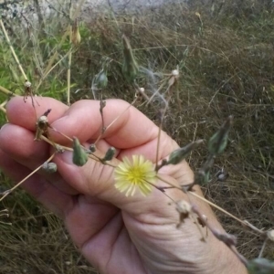
[[[133,155],[132,163],[127,157],[122,160],[114,170],[115,187],[120,192],[126,192],[126,196],[134,195],[136,188],[142,195],[149,195],[156,181],[153,163],[144,160],[142,155]]]

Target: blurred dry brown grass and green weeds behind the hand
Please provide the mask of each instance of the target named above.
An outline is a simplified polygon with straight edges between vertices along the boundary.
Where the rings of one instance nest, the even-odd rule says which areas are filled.
[[[69,24],[68,6],[57,5],[45,13],[36,3],[12,13],[4,12],[10,6],[2,5],[2,19],[34,90],[66,101],[70,44],[68,39],[61,40]],[[91,82],[106,59],[111,64],[103,97],[133,100],[134,90],[121,75],[122,34],[130,37],[134,55],[143,67],[170,73],[178,65],[178,96],[167,111],[164,131],[183,146],[195,139],[208,140],[227,116],[233,115],[227,151],[217,159],[211,182],[203,187],[205,195],[259,228],[273,227],[272,1],[177,1],[132,13],[115,14],[106,9],[96,16],[86,11],[79,17],[79,33],[81,42],[72,54],[72,102],[93,98]],[[56,49],[60,62],[43,79],[42,72]],[[140,82],[144,88],[148,85],[144,79]],[[0,86],[23,94],[22,83],[24,79],[0,32]],[[8,99],[0,93],[3,107]],[[158,103],[157,97],[153,103]],[[155,119],[152,109],[140,109]],[[1,111],[1,125],[5,121]],[[205,149],[200,149],[188,161],[196,169],[205,156]],[[228,175],[226,180],[222,180],[223,174]],[[1,191],[11,184],[0,172]],[[24,191],[7,196],[0,205],[4,208],[10,216],[0,219],[0,273],[91,273],[62,222]],[[231,218],[216,214],[227,232],[237,236],[238,250],[247,258],[258,257],[262,240]],[[274,259],[273,245],[269,244],[263,255]]]

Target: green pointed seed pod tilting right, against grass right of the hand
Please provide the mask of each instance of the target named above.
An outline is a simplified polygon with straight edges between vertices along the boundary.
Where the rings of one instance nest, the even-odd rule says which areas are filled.
[[[229,116],[221,128],[209,139],[209,153],[217,155],[224,152],[227,147],[228,132],[230,130],[231,124],[232,116]]]

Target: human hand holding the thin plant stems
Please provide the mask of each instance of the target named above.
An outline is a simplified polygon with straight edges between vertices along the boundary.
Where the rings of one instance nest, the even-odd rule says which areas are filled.
[[[81,100],[70,108],[58,100],[37,98],[37,115],[52,109],[49,123],[81,143],[94,142],[100,135],[99,101]],[[104,120],[108,125],[128,107],[122,100],[107,100]],[[12,179],[22,180],[53,153],[46,142],[34,142],[35,111],[28,100],[16,97],[7,107],[9,123],[0,131],[0,166]],[[50,132],[57,143],[68,145],[58,132]],[[142,154],[155,161],[158,128],[133,107],[121,115],[98,142],[106,152],[117,149],[117,158]],[[70,144],[71,145],[71,144]],[[178,145],[164,132],[159,158],[163,159]],[[57,154],[54,162],[58,173],[38,172],[23,184],[26,191],[64,219],[68,232],[82,254],[100,273],[247,273],[230,250],[209,233],[206,242],[194,222],[187,218],[177,228],[179,216],[170,199],[153,189],[148,197],[139,193],[126,197],[114,187],[113,168],[90,160],[79,167],[72,163],[69,152]],[[178,184],[193,182],[186,162],[160,170]],[[198,194],[200,190],[195,187]],[[166,192],[174,201],[189,197],[177,189]],[[191,197],[217,229],[211,209]]]

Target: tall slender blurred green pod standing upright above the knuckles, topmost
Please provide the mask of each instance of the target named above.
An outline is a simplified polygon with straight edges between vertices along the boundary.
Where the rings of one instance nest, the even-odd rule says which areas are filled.
[[[139,73],[139,66],[133,56],[132,46],[129,39],[125,35],[123,35],[121,37],[121,40],[123,45],[123,64],[121,72],[123,77],[128,82],[132,83]]]

